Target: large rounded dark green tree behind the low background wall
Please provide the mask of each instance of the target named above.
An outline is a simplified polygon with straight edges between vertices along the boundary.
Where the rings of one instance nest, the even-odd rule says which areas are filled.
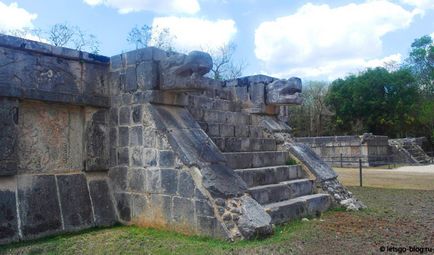
[[[380,67],[335,80],[326,103],[335,111],[334,124],[341,133],[371,132],[390,137],[415,132],[420,106],[410,70],[389,72]]]

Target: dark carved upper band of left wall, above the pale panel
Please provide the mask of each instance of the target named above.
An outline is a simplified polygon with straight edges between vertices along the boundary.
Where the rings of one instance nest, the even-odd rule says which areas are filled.
[[[0,35],[0,96],[107,107],[107,57]]]

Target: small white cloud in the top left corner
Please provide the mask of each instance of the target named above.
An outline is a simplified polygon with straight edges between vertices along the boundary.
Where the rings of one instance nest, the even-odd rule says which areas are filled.
[[[33,27],[32,21],[37,17],[37,14],[18,7],[15,2],[9,5],[0,2],[0,31],[31,28]]]

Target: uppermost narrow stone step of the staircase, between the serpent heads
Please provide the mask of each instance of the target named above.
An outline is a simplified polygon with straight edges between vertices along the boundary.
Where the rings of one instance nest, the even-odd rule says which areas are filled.
[[[189,107],[203,110],[217,110],[227,112],[240,112],[241,102],[234,102],[226,99],[210,98],[207,96],[189,97]]]

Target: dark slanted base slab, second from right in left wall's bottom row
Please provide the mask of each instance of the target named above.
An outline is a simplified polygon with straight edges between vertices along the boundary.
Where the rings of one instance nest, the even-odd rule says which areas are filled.
[[[65,230],[93,225],[92,205],[83,174],[58,175],[57,185]]]

